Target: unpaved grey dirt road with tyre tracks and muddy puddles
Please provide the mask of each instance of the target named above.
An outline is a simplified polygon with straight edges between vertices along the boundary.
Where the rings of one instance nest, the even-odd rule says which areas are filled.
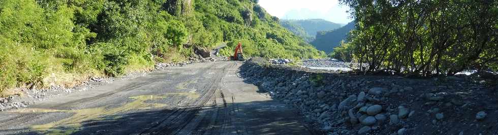
[[[169,67],[0,113],[0,134],[312,134],[238,77],[242,62]]]

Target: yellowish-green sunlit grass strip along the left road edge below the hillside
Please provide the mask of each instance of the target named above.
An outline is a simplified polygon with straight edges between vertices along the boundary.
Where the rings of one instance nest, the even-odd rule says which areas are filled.
[[[150,54],[130,53],[125,59],[126,64],[115,66],[123,66],[123,74],[146,72],[154,68],[156,61],[181,62],[191,53],[190,48],[170,48],[166,56],[154,60]],[[36,51],[29,46],[0,46],[0,97],[19,94],[20,91],[15,89],[74,87],[90,77],[109,76],[106,75],[109,68],[102,63],[102,54],[83,53],[76,48]]]

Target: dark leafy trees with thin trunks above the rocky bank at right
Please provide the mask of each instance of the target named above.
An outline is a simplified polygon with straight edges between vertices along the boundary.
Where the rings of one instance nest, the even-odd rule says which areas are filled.
[[[498,1],[341,0],[357,21],[349,44],[368,71],[414,76],[498,69]]]

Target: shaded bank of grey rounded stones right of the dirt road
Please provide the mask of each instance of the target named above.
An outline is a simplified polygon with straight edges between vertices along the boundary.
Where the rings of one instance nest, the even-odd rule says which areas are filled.
[[[332,134],[498,133],[496,87],[472,81],[483,80],[477,76],[357,76],[262,59],[241,66],[241,76]]]

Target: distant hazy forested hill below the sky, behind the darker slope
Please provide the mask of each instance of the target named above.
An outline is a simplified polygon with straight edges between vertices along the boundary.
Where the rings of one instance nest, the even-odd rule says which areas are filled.
[[[328,31],[341,27],[340,24],[333,23],[324,19],[281,20],[280,23],[282,24],[282,26],[291,30],[298,36],[301,36],[300,29],[304,30],[306,36],[301,37],[308,42],[314,40],[315,35],[317,35],[318,31]]]

